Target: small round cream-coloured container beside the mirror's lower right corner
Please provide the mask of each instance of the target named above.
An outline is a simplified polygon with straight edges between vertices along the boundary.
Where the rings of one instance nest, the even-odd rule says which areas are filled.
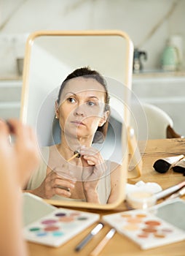
[[[130,192],[126,197],[127,205],[133,209],[146,209],[154,206],[156,197],[151,192],[136,191]]]

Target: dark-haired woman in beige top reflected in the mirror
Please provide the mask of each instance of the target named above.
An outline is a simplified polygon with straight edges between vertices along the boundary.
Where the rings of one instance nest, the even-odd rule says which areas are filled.
[[[28,182],[28,192],[47,199],[113,203],[120,166],[104,161],[92,147],[105,138],[109,114],[106,81],[98,72],[84,67],[68,75],[55,102],[61,141],[44,148],[45,162]],[[79,155],[71,159],[76,151]]]

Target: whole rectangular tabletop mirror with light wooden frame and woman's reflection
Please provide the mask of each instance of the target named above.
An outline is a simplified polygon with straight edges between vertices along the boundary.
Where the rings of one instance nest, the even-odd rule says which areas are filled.
[[[52,192],[47,194],[44,190],[43,194],[38,192],[38,195],[55,206],[109,209],[124,200],[132,65],[133,43],[122,31],[37,31],[28,37],[20,118],[36,130],[42,167],[31,177],[26,189],[43,186],[49,175],[48,180],[55,181],[54,185],[48,184]],[[60,99],[56,103],[63,80],[74,70],[84,67],[96,70],[106,81],[109,104],[103,99],[105,89],[102,80],[96,79],[97,76],[74,78],[74,82],[68,80],[64,92],[69,94],[70,91],[72,96],[65,98],[62,92],[63,102]],[[83,89],[84,83],[87,90]],[[79,110],[83,108],[82,102],[84,109]],[[67,116],[69,108],[66,111],[65,106],[69,103],[78,108],[70,115],[84,118],[78,124],[74,121],[77,117],[72,120],[70,115]],[[106,105],[109,110],[105,108]],[[100,110],[98,117],[95,113],[91,117],[84,117],[88,109],[95,108]],[[72,120],[68,121],[69,128],[65,131],[62,111],[63,116],[67,116],[66,122]],[[93,121],[91,119],[91,124],[99,121],[100,128],[107,123],[108,129],[101,143],[93,141],[90,145],[89,138],[93,136],[87,132],[86,121],[90,122],[92,116],[95,118]],[[76,137],[70,133],[70,125],[74,123]],[[90,125],[89,129],[96,128]],[[102,135],[97,131],[96,134]],[[74,136],[74,143],[71,143],[71,139],[70,142],[67,140],[71,136]],[[79,145],[74,148],[77,140]],[[71,154],[81,152],[80,157],[69,162],[70,150]]]

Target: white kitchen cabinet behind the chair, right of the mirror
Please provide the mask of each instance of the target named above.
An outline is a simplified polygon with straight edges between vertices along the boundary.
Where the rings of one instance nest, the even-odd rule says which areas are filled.
[[[185,135],[185,72],[133,75],[133,92],[141,102],[165,110],[176,132]]]

